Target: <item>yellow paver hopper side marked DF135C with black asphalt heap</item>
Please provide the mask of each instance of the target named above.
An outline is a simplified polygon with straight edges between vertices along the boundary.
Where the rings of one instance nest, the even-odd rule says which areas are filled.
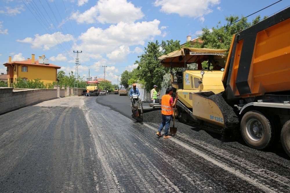
[[[190,98],[192,99],[193,116],[198,119],[225,128],[238,125],[238,116],[233,108],[226,103],[222,93],[191,92]]]

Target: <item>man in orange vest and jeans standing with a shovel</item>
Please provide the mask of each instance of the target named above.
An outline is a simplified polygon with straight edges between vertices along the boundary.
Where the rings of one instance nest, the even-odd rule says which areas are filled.
[[[172,88],[167,88],[165,95],[163,95],[162,100],[161,100],[162,123],[160,124],[160,127],[156,135],[161,137],[161,131],[163,127],[165,126],[164,136],[163,136],[163,138],[165,139],[171,138],[171,136],[168,135],[168,130],[170,126],[171,117],[173,114],[173,107],[177,101],[177,97],[173,101],[173,98],[171,97],[172,93],[173,93]]]

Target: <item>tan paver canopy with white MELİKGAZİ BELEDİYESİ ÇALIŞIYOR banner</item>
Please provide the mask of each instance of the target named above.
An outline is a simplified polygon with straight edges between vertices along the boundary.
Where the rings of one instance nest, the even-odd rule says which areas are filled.
[[[165,67],[184,67],[185,64],[202,63],[210,60],[212,63],[218,59],[225,59],[228,50],[207,48],[181,48],[169,54],[160,56],[161,64]],[[186,61],[186,63],[184,63]]]

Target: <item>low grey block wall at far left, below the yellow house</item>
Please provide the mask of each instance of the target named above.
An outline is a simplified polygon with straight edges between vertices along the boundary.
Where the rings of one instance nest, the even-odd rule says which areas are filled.
[[[0,88],[0,114],[57,98],[57,89]]]

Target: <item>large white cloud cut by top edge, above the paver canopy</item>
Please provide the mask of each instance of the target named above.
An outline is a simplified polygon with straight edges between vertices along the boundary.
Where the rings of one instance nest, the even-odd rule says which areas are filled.
[[[161,11],[167,14],[177,13],[180,16],[199,18],[204,21],[204,15],[211,13],[210,7],[218,5],[220,0],[156,0],[154,5],[161,6]]]

